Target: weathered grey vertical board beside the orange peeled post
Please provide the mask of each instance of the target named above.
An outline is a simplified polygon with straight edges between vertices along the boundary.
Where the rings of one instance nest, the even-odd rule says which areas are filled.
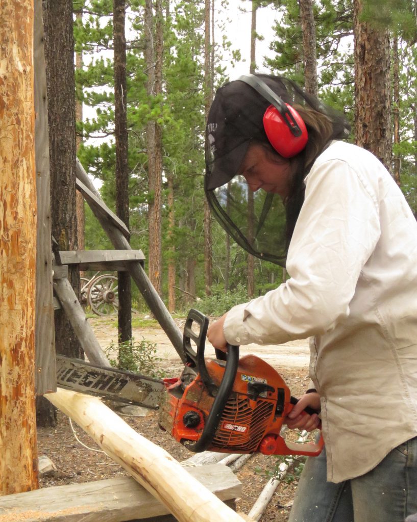
[[[34,106],[37,190],[35,389],[56,391],[55,334],[52,288],[51,205],[49,182],[48,98],[43,44],[42,0],[34,1]]]

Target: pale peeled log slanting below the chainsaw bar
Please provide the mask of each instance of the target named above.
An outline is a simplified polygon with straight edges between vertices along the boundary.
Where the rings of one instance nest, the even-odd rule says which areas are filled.
[[[73,419],[179,522],[212,522],[214,513],[216,522],[242,522],[242,517],[194,480],[165,449],[136,433],[98,398],[61,388],[45,397]]]

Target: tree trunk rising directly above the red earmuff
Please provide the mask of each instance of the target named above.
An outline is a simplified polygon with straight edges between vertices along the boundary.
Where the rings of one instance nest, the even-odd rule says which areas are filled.
[[[317,96],[316,25],[312,0],[298,0],[303,31],[304,88]]]

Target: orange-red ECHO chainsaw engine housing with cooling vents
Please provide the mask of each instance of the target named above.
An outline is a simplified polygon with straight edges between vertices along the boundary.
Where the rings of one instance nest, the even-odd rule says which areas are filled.
[[[225,362],[206,359],[205,364],[213,383],[219,386]],[[159,424],[177,441],[190,446],[201,437],[214,397],[200,374],[187,379],[187,367],[177,382],[167,379],[166,392]],[[280,436],[284,418],[293,408],[290,397],[288,386],[272,366],[255,355],[245,355],[239,360],[233,390],[207,449],[222,453],[318,455],[322,443],[288,443]]]

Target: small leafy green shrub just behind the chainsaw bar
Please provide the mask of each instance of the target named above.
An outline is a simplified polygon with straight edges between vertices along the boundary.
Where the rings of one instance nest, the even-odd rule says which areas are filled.
[[[133,337],[129,341],[121,342],[118,345],[112,342],[105,350],[106,357],[110,364],[119,370],[148,375],[150,377],[164,377],[165,372],[158,369],[158,364],[162,361],[157,355],[156,343],[146,341],[136,341]],[[117,353],[116,358],[114,354]]]

